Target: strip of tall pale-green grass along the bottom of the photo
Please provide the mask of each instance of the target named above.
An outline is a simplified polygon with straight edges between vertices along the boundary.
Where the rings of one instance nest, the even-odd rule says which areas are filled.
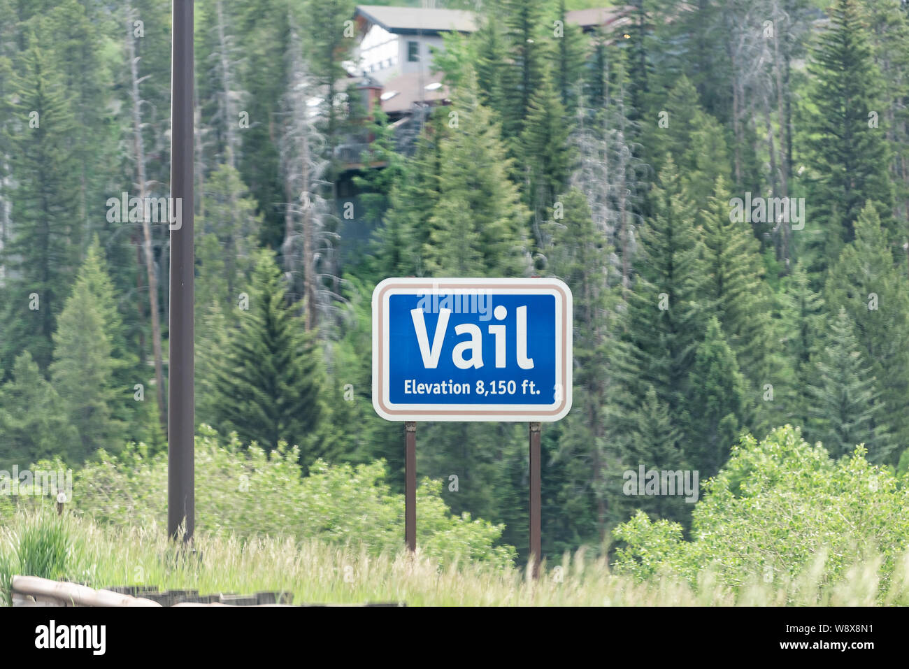
[[[65,547],[65,550],[64,550]],[[0,528],[0,574],[45,575],[92,584],[146,585],[203,594],[281,591],[296,604],[405,602],[409,605],[781,605],[909,604],[909,558],[885,594],[879,561],[855,564],[844,578],[821,584],[823,556],[796,579],[730,588],[705,568],[696,586],[654,577],[643,583],[613,574],[584,550],[544,564],[537,582],[514,567],[435,560],[404,550],[371,555],[316,540],[199,534],[195,553],[165,538],[157,525],[117,528],[84,518],[63,521],[19,513]],[[3,565],[6,566],[3,566]],[[30,570],[39,570],[31,572]],[[0,584],[8,601],[8,581]]]

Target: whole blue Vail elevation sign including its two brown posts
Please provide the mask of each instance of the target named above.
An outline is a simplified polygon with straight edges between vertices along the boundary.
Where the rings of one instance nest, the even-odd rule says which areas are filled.
[[[390,278],[373,292],[373,406],[406,430],[405,536],[416,546],[416,421],[530,424],[539,572],[540,423],[572,402],[572,295],[558,279]]]

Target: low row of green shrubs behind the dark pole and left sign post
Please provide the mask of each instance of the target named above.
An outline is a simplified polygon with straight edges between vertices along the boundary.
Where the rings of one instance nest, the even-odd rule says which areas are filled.
[[[454,516],[442,500],[441,482],[425,479],[417,490],[417,536],[430,557],[504,565],[511,546],[495,545],[504,525]],[[117,526],[158,527],[167,513],[167,455],[148,456],[141,445],[75,473],[75,514]],[[220,444],[203,426],[195,440],[195,526],[212,535],[317,538],[365,546],[370,554],[396,553],[404,542],[404,496],[391,494],[385,465],[316,461],[303,476],[295,448],[270,454],[234,438]]]

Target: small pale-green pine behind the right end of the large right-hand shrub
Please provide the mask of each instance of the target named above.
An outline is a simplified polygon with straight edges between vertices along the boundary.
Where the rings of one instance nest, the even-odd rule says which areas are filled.
[[[894,454],[893,435],[885,421],[877,380],[864,363],[852,319],[844,307],[831,318],[824,350],[814,359],[814,377],[807,386],[812,438],[834,457],[852,454],[864,444],[872,462]]]

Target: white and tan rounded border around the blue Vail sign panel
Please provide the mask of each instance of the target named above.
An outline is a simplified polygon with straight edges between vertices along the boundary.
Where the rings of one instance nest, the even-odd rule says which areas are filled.
[[[388,300],[391,295],[464,294],[477,288],[491,294],[553,295],[555,297],[555,378],[562,380],[563,399],[547,404],[393,404],[388,401],[389,379],[380,375],[390,366]],[[380,304],[381,300],[381,304]],[[555,278],[432,278],[392,277],[373,291],[373,408],[388,421],[551,423],[561,420],[572,406],[571,289]],[[380,322],[382,321],[382,322]],[[562,325],[560,325],[562,324]],[[381,354],[380,354],[381,352]],[[381,364],[380,364],[381,363]],[[507,408],[504,408],[507,407]]]

